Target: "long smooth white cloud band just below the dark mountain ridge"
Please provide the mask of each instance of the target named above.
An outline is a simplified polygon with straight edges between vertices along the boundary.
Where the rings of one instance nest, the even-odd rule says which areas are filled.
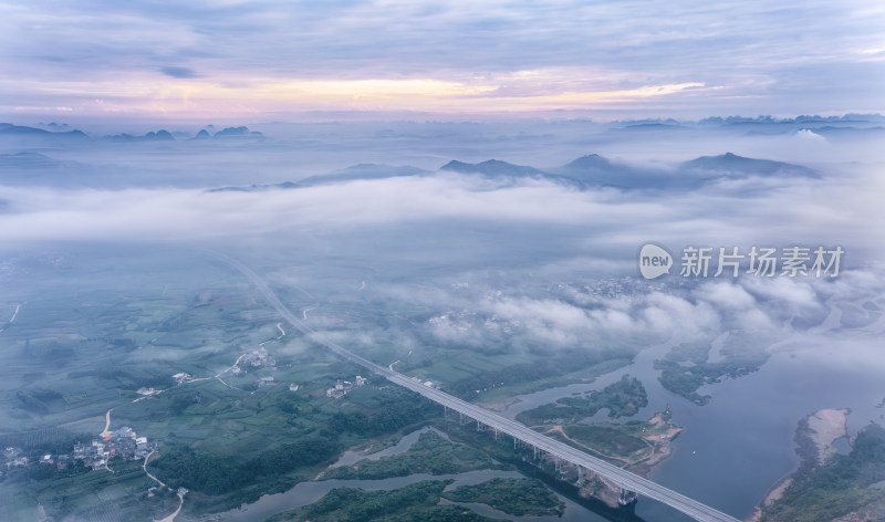
[[[858,222],[851,231],[844,228],[844,222],[862,218],[860,208],[836,210],[829,200],[813,199],[824,195],[804,196],[794,205],[785,202],[796,197],[795,191],[772,191],[752,201],[716,192],[662,200],[616,190],[579,191],[544,181],[492,190],[485,180],[448,174],[257,192],[3,188],[0,198],[9,203],[0,215],[0,237],[4,241],[194,240],[416,221],[433,227],[447,219],[554,229],[580,226],[585,241],[606,238],[623,246],[656,240],[679,247],[749,247],[785,237],[827,246],[867,244],[871,236],[865,233],[882,233],[870,222]]]

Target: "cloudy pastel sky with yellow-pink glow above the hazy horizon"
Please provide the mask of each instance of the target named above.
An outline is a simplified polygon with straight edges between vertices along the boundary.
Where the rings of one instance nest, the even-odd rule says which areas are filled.
[[[0,115],[885,112],[881,1],[0,2]]]

